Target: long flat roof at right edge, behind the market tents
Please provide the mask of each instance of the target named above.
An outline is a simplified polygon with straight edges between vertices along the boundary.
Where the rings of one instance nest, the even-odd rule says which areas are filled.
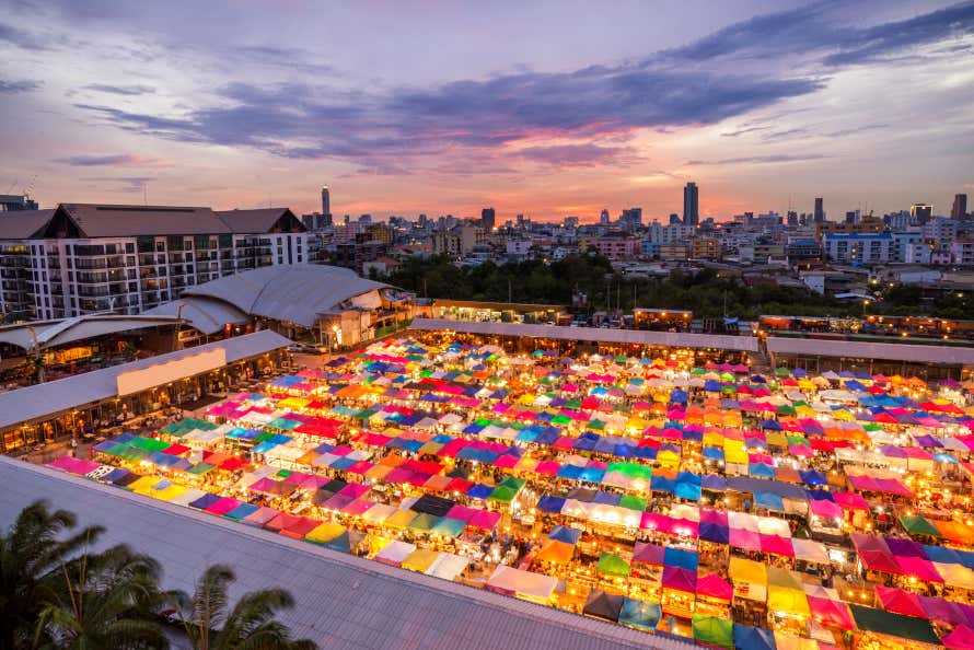
[[[805,357],[846,357],[849,359],[886,359],[912,363],[974,364],[974,347],[924,346],[911,344],[869,343],[862,340],[824,340],[769,336],[769,352]]]

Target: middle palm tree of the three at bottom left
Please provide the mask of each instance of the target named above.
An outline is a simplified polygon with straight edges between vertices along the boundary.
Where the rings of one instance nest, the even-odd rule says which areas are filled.
[[[119,545],[61,565],[43,596],[35,643],[51,649],[165,649],[153,618],[162,603],[159,564]]]

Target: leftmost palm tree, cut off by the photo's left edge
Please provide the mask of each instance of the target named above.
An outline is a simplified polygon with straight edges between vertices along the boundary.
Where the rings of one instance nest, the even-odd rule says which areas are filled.
[[[0,648],[32,643],[37,618],[65,558],[95,542],[103,529],[89,526],[61,538],[77,521],[65,510],[50,512],[35,501],[21,511],[5,532],[0,532]]]

